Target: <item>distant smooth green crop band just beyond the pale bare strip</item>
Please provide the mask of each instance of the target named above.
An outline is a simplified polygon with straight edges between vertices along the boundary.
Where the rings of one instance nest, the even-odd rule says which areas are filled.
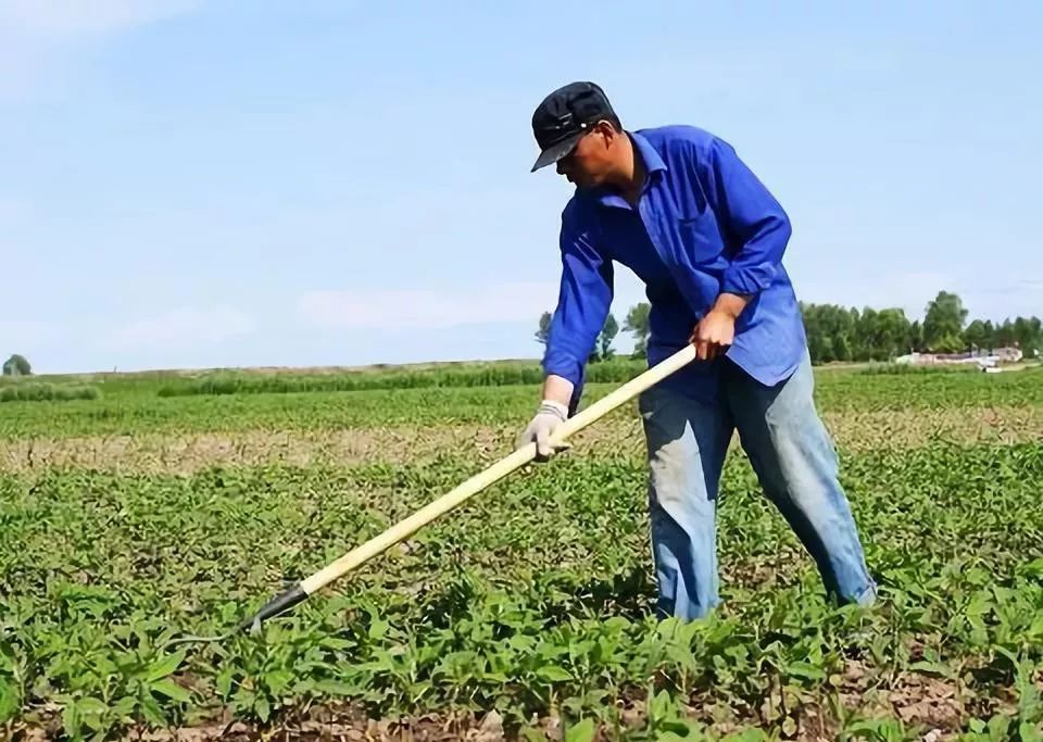
[[[945,410],[1043,405],[1043,372],[862,376],[824,372],[816,401],[825,411]],[[591,383],[583,404],[616,389]],[[391,389],[357,392],[234,394],[158,399],[123,389],[96,401],[12,404],[0,438],[62,438],[135,432],[343,429],[374,426],[515,423],[532,414],[538,385]]]

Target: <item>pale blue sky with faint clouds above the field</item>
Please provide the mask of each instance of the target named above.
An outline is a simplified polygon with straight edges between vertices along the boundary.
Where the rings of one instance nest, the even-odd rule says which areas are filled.
[[[731,142],[793,221],[801,299],[1043,315],[1041,25],[1032,2],[0,0],[0,355],[538,357],[569,190],[529,173],[529,120],[573,79],[630,128]],[[617,276],[621,318],[643,293]]]

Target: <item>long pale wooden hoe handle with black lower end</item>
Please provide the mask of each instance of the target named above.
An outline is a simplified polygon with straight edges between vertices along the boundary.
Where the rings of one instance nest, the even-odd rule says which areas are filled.
[[[551,437],[551,444],[563,442],[569,436],[575,435],[579,430],[601,419],[619,405],[633,399],[645,389],[658,383],[694,359],[695,347],[692,344],[686,345],[674,355],[657,363],[644,373],[621,385],[618,389],[598,400],[586,410],[565,420]],[[301,580],[286,592],[277,595],[261,608],[255,616],[241,624],[240,628],[253,627],[253,629],[256,630],[262,620],[300,603],[321,588],[368,562],[377,554],[407,538],[431,520],[456,507],[468,498],[474,496],[515,469],[528,464],[535,457],[535,442],[517,449],[483,471],[476,474],[450,492],[443,494],[438,500],[425,505],[407,518],[400,520],[385,532],[366,541],[361,546],[353,549],[340,558],[314,573],[311,577]]]

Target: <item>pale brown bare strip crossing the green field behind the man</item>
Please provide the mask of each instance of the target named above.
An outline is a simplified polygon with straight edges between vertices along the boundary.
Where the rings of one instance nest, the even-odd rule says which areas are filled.
[[[1015,443],[1043,438],[1043,407],[977,407],[825,413],[840,449],[915,448],[942,439],[957,443]],[[455,456],[490,464],[511,452],[517,426],[397,426],[342,430],[243,430],[147,433],[0,441],[0,470],[75,466],[147,473],[192,473],[213,465],[285,463],[424,463]],[[640,420],[614,414],[573,438],[569,455],[644,454]],[[737,440],[733,440],[733,444]]]

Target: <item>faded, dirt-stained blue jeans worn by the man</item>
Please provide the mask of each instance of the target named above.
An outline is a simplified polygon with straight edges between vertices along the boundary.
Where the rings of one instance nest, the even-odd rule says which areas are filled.
[[[700,618],[719,603],[716,503],[733,430],[765,494],[815,559],[826,591],[841,603],[874,601],[876,584],[838,480],[832,439],[815,407],[814,386],[805,355],[775,387],[722,360],[714,402],[665,386],[642,393],[661,618]]]

